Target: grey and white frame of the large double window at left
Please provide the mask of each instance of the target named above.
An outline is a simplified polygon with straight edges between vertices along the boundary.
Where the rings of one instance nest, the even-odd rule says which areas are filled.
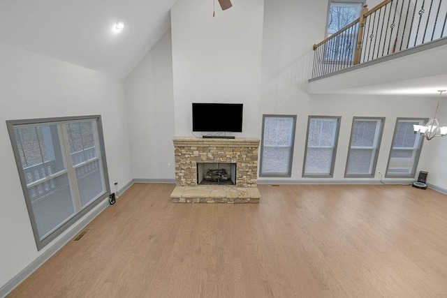
[[[94,134],[95,140],[98,142],[98,148],[96,148],[96,158],[91,158],[88,161],[80,163],[78,165],[73,165],[71,163],[71,152],[70,148],[64,144],[61,144],[62,149],[62,158],[64,159],[64,165],[66,166],[64,170],[61,170],[57,173],[53,173],[50,177],[45,177],[43,179],[39,179],[37,181],[33,181],[27,184],[27,180],[24,176],[24,169],[22,168],[22,160],[20,159],[20,154],[18,150],[17,141],[15,140],[15,128],[24,128],[31,126],[39,126],[39,125],[57,125],[58,135],[60,142],[66,142],[68,144],[68,135],[66,133],[66,124],[74,121],[94,121]],[[78,221],[82,216],[87,214],[91,209],[93,209],[97,204],[99,204],[105,198],[108,198],[110,195],[110,183],[108,180],[108,169],[107,169],[107,161],[105,158],[105,147],[103,141],[103,130],[101,124],[101,115],[89,115],[89,116],[78,116],[78,117],[56,117],[56,118],[45,118],[45,119],[21,119],[21,120],[8,120],[6,121],[6,125],[8,127],[8,133],[10,136],[10,141],[13,147],[13,153],[15,156],[15,162],[17,165],[17,171],[20,177],[20,182],[22,184],[22,190],[24,193],[24,199],[27,204],[29,219],[31,222],[31,228],[34,233],[34,239],[36,241],[36,246],[38,251],[40,251],[43,247],[49,244],[52,240],[54,240],[59,234],[68,229],[73,223]],[[99,166],[101,167],[101,184],[103,193],[93,198],[88,204],[82,207],[82,203],[80,202],[80,195],[78,189],[78,182],[76,179],[76,168],[86,165],[88,163],[92,163],[94,161],[99,161]],[[36,166],[36,165],[33,165]],[[50,181],[50,179],[54,179],[57,176],[62,174],[67,174],[68,176],[68,184],[70,185],[70,190],[73,196],[73,209],[75,210],[73,216],[66,219],[66,221],[59,224],[53,230],[48,232],[43,236],[39,236],[38,228],[36,225],[36,218],[34,217],[34,210],[31,205],[31,197],[29,193],[29,188],[34,185],[38,185],[44,183],[45,181]]]

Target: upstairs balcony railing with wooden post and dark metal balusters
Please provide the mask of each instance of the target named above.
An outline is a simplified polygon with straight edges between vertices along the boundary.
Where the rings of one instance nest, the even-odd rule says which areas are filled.
[[[313,46],[312,78],[447,36],[447,1],[386,0]]]

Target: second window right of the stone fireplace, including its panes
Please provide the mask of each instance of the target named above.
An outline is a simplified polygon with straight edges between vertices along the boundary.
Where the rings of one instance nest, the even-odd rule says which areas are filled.
[[[302,177],[332,177],[340,119],[309,116]]]

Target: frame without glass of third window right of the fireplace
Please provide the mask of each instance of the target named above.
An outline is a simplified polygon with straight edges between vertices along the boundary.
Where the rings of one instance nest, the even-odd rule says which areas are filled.
[[[356,121],[376,121],[376,132],[374,135],[374,142],[372,144],[372,147],[353,147],[352,146],[354,125],[356,124]],[[351,138],[349,139],[348,157],[346,158],[346,167],[344,170],[345,178],[374,178],[374,175],[376,172],[377,159],[379,158],[379,149],[380,149],[380,144],[381,144],[381,140],[382,140],[384,125],[385,125],[384,117],[353,117],[352,126],[351,126]],[[372,160],[371,160],[371,163],[369,163],[369,173],[365,173],[365,174],[348,173],[348,165],[349,165],[349,157],[351,156],[351,149],[367,149],[367,150],[372,149],[373,150]]]

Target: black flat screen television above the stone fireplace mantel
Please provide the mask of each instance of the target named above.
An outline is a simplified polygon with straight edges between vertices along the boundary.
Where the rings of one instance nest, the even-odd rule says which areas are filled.
[[[242,133],[242,103],[193,103],[193,131]]]

